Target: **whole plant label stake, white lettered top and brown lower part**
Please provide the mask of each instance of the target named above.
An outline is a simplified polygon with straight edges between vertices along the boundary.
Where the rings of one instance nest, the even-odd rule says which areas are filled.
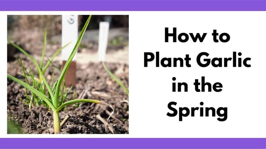
[[[78,38],[78,16],[77,15],[62,15],[62,46],[71,42],[67,47],[62,50],[62,69],[71,54],[75,43]],[[69,69],[65,75],[65,85],[76,86],[76,60],[77,54],[75,54]]]

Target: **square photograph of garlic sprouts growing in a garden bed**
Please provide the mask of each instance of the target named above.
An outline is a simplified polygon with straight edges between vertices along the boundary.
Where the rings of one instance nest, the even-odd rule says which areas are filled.
[[[7,15],[7,134],[129,134],[128,15]]]

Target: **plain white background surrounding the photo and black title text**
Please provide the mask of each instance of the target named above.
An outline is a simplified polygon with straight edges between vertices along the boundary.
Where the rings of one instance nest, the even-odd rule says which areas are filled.
[[[1,68],[6,70],[6,32],[7,14],[93,14],[130,15],[130,126],[129,134],[73,134],[73,135],[7,135],[6,133],[6,71],[0,75],[0,137],[266,137],[265,100],[265,43],[266,12],[1,12],[0,48],[2,49]],[[164,42],[164,28],[177,28],[177,33],[207,33],[205,40],[186,43]],[[214,43],[211,33],[226,32],[231,39],[227,43]],[[191,58],[190,68],[155,67],[149,62],[144,68],[144,52],[160,52],[160,57]],[[242,52],[242,59],[251,58],[250,68],[202,68],[196,63],[200,52],[208,52],[210,58],[232,57],[232,52]],[[221,82],[223,90],[219,93],[194,91],[194,79],[205,76],[212,84]],[[172,77],[176,82],[187,82],[188,92],[172,92]],[[178,107],[228,107],[228,118],[224,122],[218,117],[168,117],[167,104],[177,102]],[[178,111],[179,112],[179,111]]]

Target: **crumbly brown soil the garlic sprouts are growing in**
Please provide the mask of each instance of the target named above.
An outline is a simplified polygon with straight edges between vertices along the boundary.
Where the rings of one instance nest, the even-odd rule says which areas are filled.
[[[26,68],[35,68],[23,54],[19,53],[16,56],[21,56],[23,65]],[[46,64],[46,63],[45,63]],[[60,62],[54,62],[57,67]],[[128,65],[106,63],[107,67],[122,81],[125,86],[128,86]],[[36,69],[33,69],[36,72]],[[7,73],[24,80],[24,77],[19,75],[22,69],[19,63],[14,60],[7,63]],[[37,74],[37,72],[35,73]],[[52,67],[48,69],[45,76],[51,81]],[[56,78],[60,75],[56,71]],[[117,134],[128,134],[129,111],[128,103],[121,102],[128,100],[127,94],[105,71],[101,63],[88,63],[87,65],[77,64],[77,85],[76,97],[83,94],[83,98],[97,99],[111,104],[114,109],[114,116],[118,119],[110,118],[109,125]],[[37,77],[37,76],[36,76]],[[32,107],[29,110],[20,98],[24,99],[25,95],[23,87],[16,82],[7,79],[7,113],[8,119],[15,121],[21,126],[23,133],[29,134],[50,134],[53,133],[53,116],[51,109],[44,106]],[[72,97],[74,90],[72,89],[68,97]],[[28,92],[30,96],[30,93]],[[69,99],[68,98],[68,99]],[[66,99],[66,100],[68,100]],[[70,116],[66,124],[61,129],[62,133],[66,134],[111,134],[109,129],[105,130],[105,125],[99,121],[96,116],[100,115],[104,120],[107,120],[111,112],[111,108],[99,104],[81,103],[73,107],[70,105],[59,112],[60,120],[62,121],[67,115]]]

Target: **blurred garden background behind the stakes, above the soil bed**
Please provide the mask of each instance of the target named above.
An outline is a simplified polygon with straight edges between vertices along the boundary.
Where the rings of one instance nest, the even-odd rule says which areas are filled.
[[[78,16],[79,31],[84,26],[89,15]],[[93,15],[78,49],[77,58],[80,63],[97,62],[99,22],[110,23],[106,62],[128,64],[128,15]],[[47,46],[45,56],[51,56],[61,47],[61,15],[8,15],[7,36],[34,55],[41,56],[43,48],[43,33],[47,29]],[[14,60],[18,52],[8,45],[8,61]],[[60,60],[57,56],[55,60]]]

